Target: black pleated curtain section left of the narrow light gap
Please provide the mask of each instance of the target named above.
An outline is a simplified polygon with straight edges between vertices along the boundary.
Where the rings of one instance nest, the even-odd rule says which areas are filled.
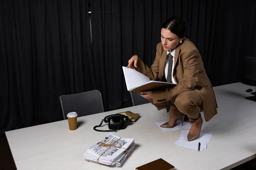
[[[63,119],[58,97],[98,88],[86,0],[0,0],[0,132]]]

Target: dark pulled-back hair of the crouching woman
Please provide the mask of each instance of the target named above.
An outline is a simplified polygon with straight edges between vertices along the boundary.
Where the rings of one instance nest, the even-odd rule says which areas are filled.
[[[185,22],[181,18],[169,18],[163,23],[162,28],[169,29],[169,31],[176,34],[179,38],[183,38],[185,36],[186,26]]]

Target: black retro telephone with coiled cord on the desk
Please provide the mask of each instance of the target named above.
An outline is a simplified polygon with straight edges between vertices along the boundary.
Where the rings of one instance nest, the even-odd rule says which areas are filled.
[[[96,127],[100,127],[103,123],[108,123],[108,128],[110,130],[98,130]],[[125,129],[125,122],[128,122],[129,118],[128,116],[121,115],[121,114],[111,114],[106,116],[104,119],[102,119],[101,123],[97,126],[94,126],[93,129],[99,132],[116,132],[120,129]]]

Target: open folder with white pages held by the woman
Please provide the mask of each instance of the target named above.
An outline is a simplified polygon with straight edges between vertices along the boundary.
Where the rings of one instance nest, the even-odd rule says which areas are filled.
[[[122,67],[125,83],[128,91],[135,93],[140,93],[141,91],[150,91],[150,90],[160,90],[164,88],[172,88],[177,84],[169,82],[159,82],[150,80],[144,74],[141,74],[139,71],[136,71],[132,68]]]

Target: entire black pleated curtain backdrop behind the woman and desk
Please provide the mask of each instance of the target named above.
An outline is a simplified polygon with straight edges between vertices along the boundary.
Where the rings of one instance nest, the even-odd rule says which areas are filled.
[[[0,132],[61,120],[62,94],[98,89],[105,111],[131,106],[122,66],[134,54],[150,66],[172,16],[212,85],[238,82],[241,59],[256,57],[255,9],[255,0],[91,0],[90,30],[86,0],[0,0]]]

